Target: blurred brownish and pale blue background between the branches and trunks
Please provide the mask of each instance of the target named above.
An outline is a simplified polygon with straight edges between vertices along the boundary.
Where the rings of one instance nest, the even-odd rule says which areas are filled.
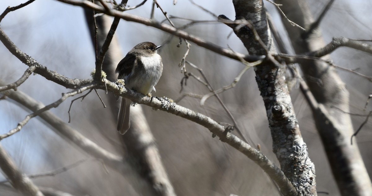
[[[16,6],[24,1],[0,1],[0,11],[7,6]],[[135,5],[140,1],[128,1]],[[215,20],[210,14],[194,6],[190,1],[179,0],[160,1],[162,8],[172,16],[195,20]],[[200,1],[197,2],[211,12],[234,19],[234,7],[231,1]],[[278,12],[272,4],[264,1],[272,14],[281,36],[285,41],[286,33],[282,30]],[[320,14],[325,1],[309,0],[314,16]],[[369,1],[338,0],[328,11],[320,27],[325,42],[330,42],[334,36],[344,36],[351,39],[372,39],[370,24]],[[128,13],[149,17],[151,1],[144,6],[128,10]],[[155,19],[161,21],[164,15],[155,10]],[[173,19],[176,26],[185,24],[183,20]],[[36,0],[29,6],[9,13],[1,21],[1,29],[25,53],[69,78],[91,78],[90,72],[94,65],[94,50],[81,7],[71,6],[52,0]],[[234,33],[227,38],[231,29],[222,23],[202,23],[186,30],[227,48],[229,45],[237,52],[247,53],[241,41]],[[134,45],[143,41],[161,45],[170,35],[153,27],[121,20],[115,35],[122,50],[117,51],[122,57]],[[182,93],[207,94],[208,88],[193,78],[187,81],[180,94],[180,81],[183,78],[178,66],[185,51],[185,43],[177,48],[178,37],[173,36],[170,43],[164,45],[158,52],[163,58],[164,71],[153,95],[168,97],[174,100]],[[286,41],[288,42],[288,41]],[[243,68],[241,62],[228,59],[216,53],[192,44],[187,60],[203,69],[211,85],[217,89],[230,84]],[[357,69],[364,75],[371,76],[372,57],[367,53],[350,48],[339,48],[331,54],[336,65]],[[13,56],[2,44],[0,45],[0,78],[7,83],[17,80],[27,66]],[[198,74],[196,70],[187,68]],[[338,71],[350,91],[350,111],[365,114],[363,108],[368,95],[372,91],[371,82],[349,72]],[[39,75],[32,75],[18,90],[34,99],[50,104],[61,97],[61,93],[69,90]],[[99,91],[103,101],[104,91]],[[220,94],[220,97],[232,115],[237,120],[243,134],[260,144],[261,151],[270,160],[279,165],[272,152],[272,139],[268,127],[266,112],[260,92],[255,81],[253,69],[246,72],[235,88]],[[74,97],[75,98],[75,97]],[[292,102],[299,121],[302,137],[308,146],[311,160],[315,164],[317,175],[317,190],[328,192],[329,195],[340,195],[332,177],[323,146],[318,137],[312,120],[311,110],[296,86],[291,92]],[[73,98],[70,98],[71,100]],[[220,122],[229,122],[230,118],[215,97],[209,98],[203,107],[200,99],[185,97],[177,104],[191,110],[208,115]],[[63,102],[51,111],[65,122],[68,122],[70,101]],[[179,196],[187,195],[279,195],[269,177],[259,166],[243,156],[234,148],[222,143],[218,138],[212,138],[211,133],[201,125],[187,121],[163,111],[153,111],[142,107],[154,134],[164,167],[171,183]],[[371,105],[367,110],[371,110]],[[0,101],[0,133],[6,133],[16,127],[29,110],[23,110],[10,99]],[[352,116],[355,130],[365,120],[363,116]],[[123,144],[116,131],[116,116],[111,110],[103,108],[97,96],[92,93],[84,101],[76,101],[71,109],[70,126],[80,131],[90,140],[115,153],[123,154]],[[372,176],[372,122],[368,122],[357,135],[357,145],[363,156],[363,161]],[[237,135],[237,133],[234,133]],[[22,130],[1,141],[1,145],[16,161],[17,166],[26,174],[44,173],[53,169],[70,165],[76,161],[89,159],[90,156],[79,150],[74,144],[51,131],[40,118],[34,118]],[[125,150],[124,150],[125,151]],[[4,180],[0,175],[0,180]],[[78,166],[55,176],[47,176],[33,180],[39,186],[54,187],[73,195],[115,196],[138,195],[132,183],[112,169],[106,171],[97,160],[87,160]],[[12,194],[3,190],[0,195]]]

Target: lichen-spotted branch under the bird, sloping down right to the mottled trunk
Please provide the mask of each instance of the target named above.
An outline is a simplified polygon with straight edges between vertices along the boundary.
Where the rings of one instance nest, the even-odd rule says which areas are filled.
[[[208,128],[208,130],[217,135],[222,142],[229,144],[256,162],[279,185],[281,190],[287,193],[287,195],[293,195],[293,193],[296,193],[293,184],[289,182],[289,180],[285,177],[282,171],[275,166],[275,164],[267,159],[267,157],[264,156],[259,150],[256,150],[249,144],[225,130],[225,128],[222,127],[222,125],[220,125],[217,121],[212,120],[199,112],[176,105],[174,102],[170,102],[167,98],[150,98],[138,92],[132,91],[131,89],[122,89],[122,87],[119,87],[117,84],[110,82],[107,79],[105,79],[105,82],[108,90],[116,95],[134,100],[138,104],[148,105],[158,110],[169,112]],[[103,89],[104,86],[99,85],[97,88]],[[120,89],[122,89],[124,92],[121,93]]]

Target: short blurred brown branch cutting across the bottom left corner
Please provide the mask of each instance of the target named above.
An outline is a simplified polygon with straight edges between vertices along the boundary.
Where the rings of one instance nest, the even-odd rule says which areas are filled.
[[[24,195],[44,196],[39,188],[25,174],[19,170],[0,144],[0,168],[12,182],[12,186]]]

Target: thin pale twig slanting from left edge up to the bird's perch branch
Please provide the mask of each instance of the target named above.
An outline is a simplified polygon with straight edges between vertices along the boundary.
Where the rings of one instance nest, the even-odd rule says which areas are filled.
[[[18,131],[20,131],[22,129],[23,126],[25,126],[27,124],[28,121],[31,120],[31,118],[33,117],[36,117],[38,116],[39,114],[41,114],[42,112],[44,111],[47,111],[47,110],[50,110],[51,108],[56,108],[58,107],[58,105],[60,105],[63,101],[65,101],[68,97],[71,97],[71,96],[74,96],[76,94],[79,94],[87,89],[91,89],[91,88],[94,88],[94,86],[96,86],[95,83],[90,83],[90,84],[87,84],[87,85],[84,85],[84,86],[81,86],[80,88],[78,89],[75,89],[73,91],[70,91],[68,93],[65,93],[62,95],[62,97],[60,99],[58,99],[57,101],[53,102],[52,104],[49,104],[47,106],[45,106],[44,108],[41,108],[40,110],[36,111],[36,112],[33,112],[32,114],[29,114],[26,116],[25,119],[23,119],[22,121],[20,121],[17,125],[16,128],[10,130],[8,133],[5,133],[5,134],[1,134],[0,135],[0,141],[6,137],[9,137],[10,135],[13,135],[15,133],[17,133]]]

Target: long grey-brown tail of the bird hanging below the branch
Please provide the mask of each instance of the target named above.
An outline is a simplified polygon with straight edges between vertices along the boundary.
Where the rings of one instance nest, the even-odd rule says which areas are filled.
[[[119,109],[118,115],[118,131],[124,135],[126,131],[128,131],[129,127],[131,127],[130,119],[130,109],[131,109],[132,101],[126,98],[121,99],[121,105]]]

